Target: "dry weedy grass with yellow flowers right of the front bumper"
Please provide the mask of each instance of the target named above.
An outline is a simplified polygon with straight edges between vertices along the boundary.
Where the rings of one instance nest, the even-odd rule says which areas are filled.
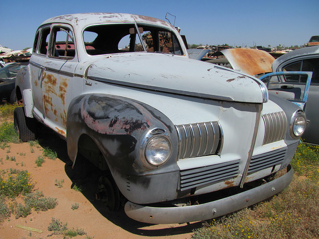
[[[292,183],[272,199],[207,221],[193,239],[319,238],[319,147],[300,143]]]

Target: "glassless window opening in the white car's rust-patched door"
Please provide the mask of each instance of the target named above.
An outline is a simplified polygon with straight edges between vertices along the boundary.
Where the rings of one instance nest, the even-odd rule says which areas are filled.
[[[53,27],[52,42],[49,56],[58,58],[73,58],[75,47],[72,31],[66,27]]]

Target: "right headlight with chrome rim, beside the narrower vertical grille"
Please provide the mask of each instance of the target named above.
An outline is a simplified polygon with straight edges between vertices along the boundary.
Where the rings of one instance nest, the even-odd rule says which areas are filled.
[[[299,124],[302,123],[302,124]],[[307,125],[306,115],[303,110],[297,110],[294,112],[290,119],[289,132],[293,138],[299,138],[305,132]],[[302,131],[301,131],[302,129]]]

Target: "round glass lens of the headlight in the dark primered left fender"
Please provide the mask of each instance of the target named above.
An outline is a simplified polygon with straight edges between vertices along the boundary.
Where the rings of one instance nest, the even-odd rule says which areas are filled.
[[[170,143],[168,139],[158,136],[152,138],[145,148],[145,157],[152,165],[164,163],[170,155]]]

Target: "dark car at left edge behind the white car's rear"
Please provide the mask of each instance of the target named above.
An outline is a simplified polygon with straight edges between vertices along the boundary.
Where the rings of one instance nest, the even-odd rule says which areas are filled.
[[[28,62],[14,62],[0,68],[0,100],[13,104],[15,102],[15,77],[17,72],[27,66]]]

